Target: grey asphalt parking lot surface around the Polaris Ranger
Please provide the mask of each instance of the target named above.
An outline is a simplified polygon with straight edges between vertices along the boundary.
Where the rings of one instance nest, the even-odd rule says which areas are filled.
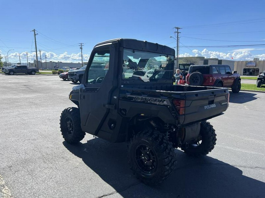
[[[265,93],[230,92],[225,114],[209,120],[214,150],[191,158],[161,185],[140,183],[127,145],[86,134],[78,145],[61,136],[60,114],[75,106],[77,84],[57,75],[0,74],[0,197],[264,197]]]

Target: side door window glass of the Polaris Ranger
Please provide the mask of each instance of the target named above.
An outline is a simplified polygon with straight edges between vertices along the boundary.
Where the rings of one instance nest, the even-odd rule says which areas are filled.
[[[88,70],[87,83],[101,84],[109,70],[110,50],[104,48],[94,53],[93,61]]]

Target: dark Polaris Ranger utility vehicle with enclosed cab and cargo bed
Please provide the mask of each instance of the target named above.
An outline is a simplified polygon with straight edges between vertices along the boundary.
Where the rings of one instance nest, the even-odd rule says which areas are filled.
[[[147,184],[172,173],[175,148],[196,157],[211,152],[216,133],[206,120],[226,111],[228,88],[173,85],[174,55],[170,47],[134,39],[97,44],[69,94],[78,108],[60,117],[65,141],[90,133],[128,142],[130,168]]]

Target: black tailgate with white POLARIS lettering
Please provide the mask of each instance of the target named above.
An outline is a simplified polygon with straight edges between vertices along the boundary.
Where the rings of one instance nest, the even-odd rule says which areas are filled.
[[[226,111],[229,103],[228,88],[185,92],[185,113],[178,125],[207,120]]]

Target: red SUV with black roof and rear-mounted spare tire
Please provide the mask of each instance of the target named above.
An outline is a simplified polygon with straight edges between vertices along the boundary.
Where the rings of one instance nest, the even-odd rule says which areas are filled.
[[[186,82],[194,86],[231,87],[233,93],[241,89],[241,78],[232,73],[229,65],[191,65]]]

